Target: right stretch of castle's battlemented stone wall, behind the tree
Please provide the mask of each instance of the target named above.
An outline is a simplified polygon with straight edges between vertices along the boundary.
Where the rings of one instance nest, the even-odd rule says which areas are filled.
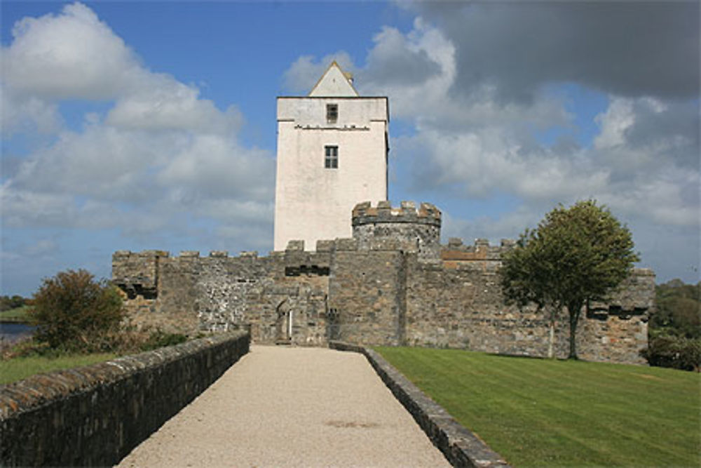
[[[498,279],[498,253],[504,248],[510,244],[497,247],[477,241],[472,252],[444,249],[440,263],[409,260],[407,345],[547,356],[547,316],[533,307],[504,303]],[[634,269],[606,303],[590,305],[588,312],[585,308],[578,326],[580,358],[644,363],[638,352],[647,343],[654,293],[653,273]],[[553,347],[555,356],[569,354],[566,313],[557,319]]]

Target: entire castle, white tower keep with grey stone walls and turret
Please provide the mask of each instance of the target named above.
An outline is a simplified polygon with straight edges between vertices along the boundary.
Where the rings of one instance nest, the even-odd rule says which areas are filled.
[[[307,98],[278,98],[275,250],[114,253],[112,279],[132,323],[185,333],[244,328],[270,344],[343,340],[546,356],[547,317],[507,306],[501,294],[497,272],[511,241],[441,244],[435,206],[384,200],[387,119],[386,98],[360,98],[335,63]],[[328,189],[334,183],[348,192]],[[352,213],[339,222],[348,203]],[[653,272],[635,269],[606,303],[590,304],[579,356],[644,363],[638,352],[654,295]],[[556,356],[567,356],[568,337],[566,320],[558,321]]]

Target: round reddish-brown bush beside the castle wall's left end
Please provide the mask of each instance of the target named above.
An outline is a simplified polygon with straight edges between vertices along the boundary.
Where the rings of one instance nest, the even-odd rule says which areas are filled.
[[[107,280],[79,269],[43,280],[30,312],[37,326],[34,337],[54,349],[95,351],[109,347],[123,319],[122,299]],[[95,349],[97,347],[98,349]]]

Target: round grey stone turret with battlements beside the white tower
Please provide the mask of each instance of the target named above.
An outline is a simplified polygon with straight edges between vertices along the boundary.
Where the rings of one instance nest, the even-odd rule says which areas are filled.
[[[353,208],[353,239],[359,249],[407,250],[418,252],[419,258],[440,258],[441,213],[431,203],[402,201],[392,208],[389,201],[373,207],[369,201]]]

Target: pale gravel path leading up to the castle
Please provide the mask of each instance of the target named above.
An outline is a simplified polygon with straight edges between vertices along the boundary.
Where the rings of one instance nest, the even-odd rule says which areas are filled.
[[[365,356],[254,346],[120,467],[447,467]]]

